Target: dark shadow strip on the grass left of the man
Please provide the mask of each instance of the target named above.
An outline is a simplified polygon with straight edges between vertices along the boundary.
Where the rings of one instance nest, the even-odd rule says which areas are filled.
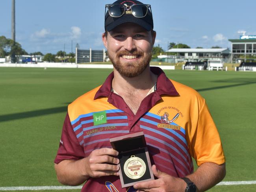
[[[49,109],[40,109],[40,110],[28,111],[28,112],[22,112],[22,113],[4,114],[4,115],[0,115],[0,122],[42,116],[47,114],[62,113],[65,111],[67,111],[67,106],[55,107],[55,108],[49,108]]]

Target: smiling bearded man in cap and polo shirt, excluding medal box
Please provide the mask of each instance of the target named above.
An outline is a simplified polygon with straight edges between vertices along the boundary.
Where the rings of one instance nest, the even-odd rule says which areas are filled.
[[[114,69],[68,107],[55,159],[59,182],[87,181],[86,192],[193,192],[216,185],[225,158],[204,98],[149,66],[156,38],[150,5],[118,0],[106,8],[102,40]],[[167,114],[168,122],[161,118]],[[121,188],[118,151],[109,138],[138,131],[145,134],[155,180]]]

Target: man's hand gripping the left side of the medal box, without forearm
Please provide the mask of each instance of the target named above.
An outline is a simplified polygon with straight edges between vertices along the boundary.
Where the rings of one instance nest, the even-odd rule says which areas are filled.
[[[102,177],[108,175],[119,175],[119,159],[114,157],[118,151],[110,148],[101,148],[91,152],[85,158],[85,170],[83,175],[89,177]]]

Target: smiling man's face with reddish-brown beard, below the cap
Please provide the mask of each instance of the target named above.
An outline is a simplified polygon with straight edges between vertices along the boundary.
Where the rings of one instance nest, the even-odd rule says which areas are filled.
[[[108,57],[123,76],[135,77],[149,65],[156,33],[134,23],[124,23],[102,35]]]

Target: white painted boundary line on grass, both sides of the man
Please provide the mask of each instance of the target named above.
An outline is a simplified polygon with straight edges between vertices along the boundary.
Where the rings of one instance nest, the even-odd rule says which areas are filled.
[[[223,181],[217,185],[254,185],[256,181]],[[6,186],[0,187],[0,191],[21,191],[21,190],[67,190],[81,189],[82,186]]]

